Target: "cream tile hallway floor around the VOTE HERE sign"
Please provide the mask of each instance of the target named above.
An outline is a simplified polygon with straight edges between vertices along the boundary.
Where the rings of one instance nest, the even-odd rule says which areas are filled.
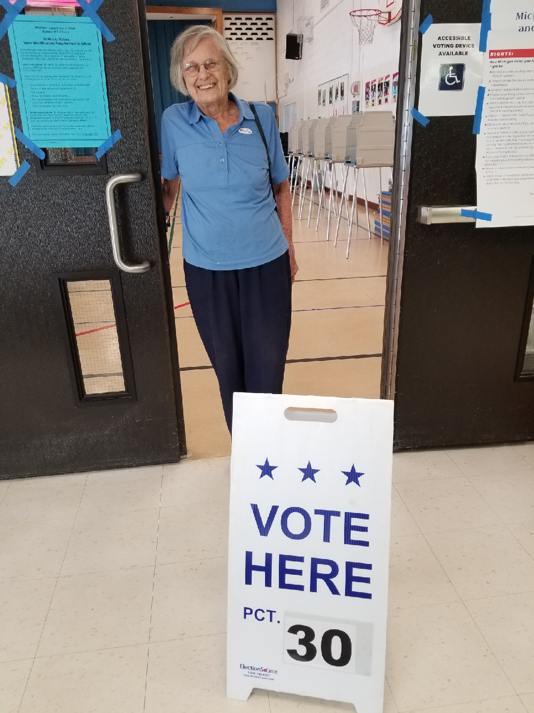
[[[384,712],[534,713],[534,444],[393,483]],[[353,710],[226,699],[228,505],[226,457],[0,481],[1,713]]]

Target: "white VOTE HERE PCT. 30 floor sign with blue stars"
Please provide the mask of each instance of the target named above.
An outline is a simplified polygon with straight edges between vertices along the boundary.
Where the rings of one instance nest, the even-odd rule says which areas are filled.
[[[235,394],[230,698],[382,713],[393,402]]]

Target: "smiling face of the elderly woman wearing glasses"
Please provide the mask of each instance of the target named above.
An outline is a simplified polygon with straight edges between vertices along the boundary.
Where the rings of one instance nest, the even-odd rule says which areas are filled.
[[[209,70],[204,66],[206,59],[219,59],[219,49],[209,38],[202,39],[193,51],[184,54],[182,68],[188,63],[197,63],[200,71],[197,76],[188,76],[184,72],[184,81],[192,100],[199,106],[220,101],[228,94],[228,68],[222,59],[218,68]]]

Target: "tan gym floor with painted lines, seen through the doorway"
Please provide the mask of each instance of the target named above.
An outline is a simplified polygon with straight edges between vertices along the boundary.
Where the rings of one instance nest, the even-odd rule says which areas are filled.
[[[325,396],[379,396],[384,297],[388,243],[366,230],[352,232],[348,260],[348,225],[340,222],[334,247],[335,220],[326,241],[327,220],[315,232],[318,206],[308,228],[306,200],[303,220],[293,211],[293,237],[300,270],[293,286],[293,319],[284,392]],[[360,222],[365,210],[358,207]],[[182,225],[179,205],[172,232],[171,273],[174,304],[187,303],[182,267]],[[323,216],[325,213],[323,213]],[[373,218],[371,215],[371,220]],[[170,237],[170,230],[169,230]],[[216,377],[201,343],[191,308],[177,307],[176,324],[187,448],[193,458],[225,456],[231,441],[226,429]],[[375,356],[367,356],[373,354]],[[357,359],[337,360],[340,356]],[[317,361],[318,359],[328,360]],[[302,361],[312,359],[315,361]]]

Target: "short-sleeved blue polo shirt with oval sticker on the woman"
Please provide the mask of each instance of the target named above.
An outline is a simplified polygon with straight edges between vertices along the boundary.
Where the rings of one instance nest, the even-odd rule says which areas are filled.
[[[267,153],[246,101],[224,134],[194,101],[162,117],[162,177],[182,178],[182,255],[206,270],[241,270],[276,260],[288,249],[269,184]],[[254,103],[271,158],[273,183],[289,175],[266,104]]]

